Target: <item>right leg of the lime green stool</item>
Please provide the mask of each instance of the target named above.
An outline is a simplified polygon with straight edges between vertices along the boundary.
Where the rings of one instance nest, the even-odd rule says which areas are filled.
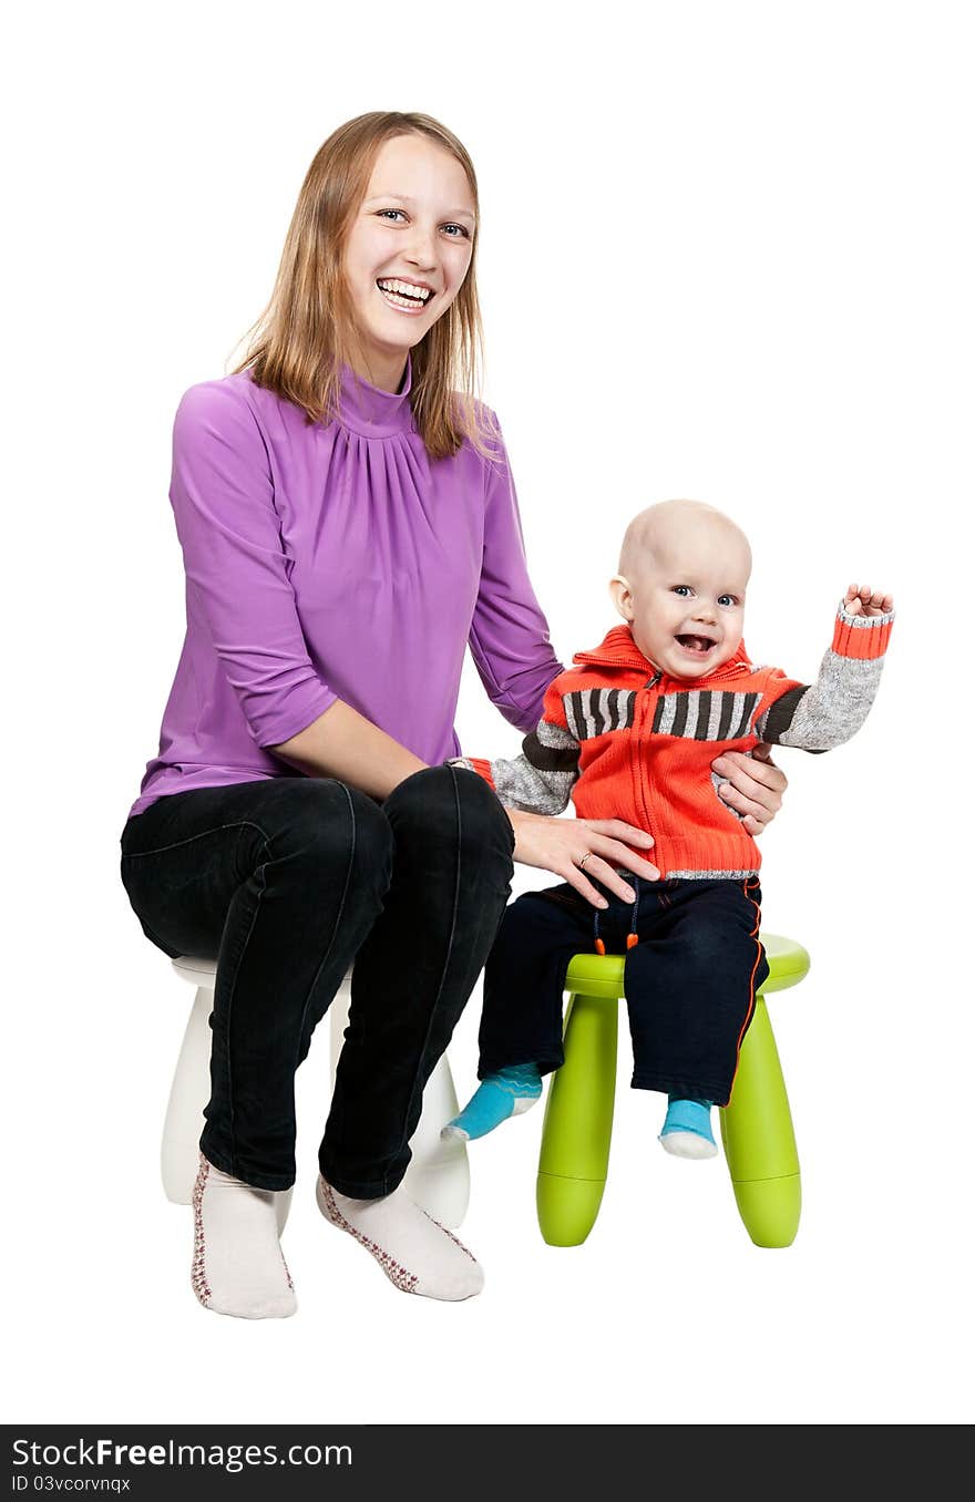
[[[790,1247],[802,1193],[792,1113],[765,997],[756,997],[721,1140],[738,1212],[756,1247]]]

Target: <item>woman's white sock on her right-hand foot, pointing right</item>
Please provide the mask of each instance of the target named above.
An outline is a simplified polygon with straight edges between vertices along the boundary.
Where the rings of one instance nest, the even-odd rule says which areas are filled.
[[[455,1302],[484,1287],[481,1263],[401,1187],[380,1200],[353,1200],[318,1175],[315,1197],[324,1218],[355,1236],[403,1293]]]

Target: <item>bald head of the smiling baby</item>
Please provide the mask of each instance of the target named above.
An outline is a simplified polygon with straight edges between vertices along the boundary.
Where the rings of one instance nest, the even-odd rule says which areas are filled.
[[[663,500],[626,527],[613,604],[640,652],[672,677],[703,677],[742,638],[748,538],[700,500]]]

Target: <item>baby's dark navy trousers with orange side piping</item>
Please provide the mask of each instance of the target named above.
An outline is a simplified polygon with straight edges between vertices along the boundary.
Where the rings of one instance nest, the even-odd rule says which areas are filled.
[[[599,936],[607,954],[626,955],[632,1084],[726,1105],[769,973],[759,879],[629,880],[635,904],[604,889]],[[592,954],[593,915],[568,883],[506,909],[484,972],[479,1078],[511,1063],[547,1074],[565,1062],[565,972],[574,954]],[[631,930],[638,942],[626,949]]]

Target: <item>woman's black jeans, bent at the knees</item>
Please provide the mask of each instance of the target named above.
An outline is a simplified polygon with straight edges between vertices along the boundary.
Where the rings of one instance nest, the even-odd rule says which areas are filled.
[[[216,958],[200,1148],[294,1182],[294,1071],[355,960],[318,1152],[343,1194],[403,1179],[422,1093],[511,894],[514,832],[475,772],[436,766],[379,804],[334,778],[171,793],[126,822],[122,882],[170,957]]]

